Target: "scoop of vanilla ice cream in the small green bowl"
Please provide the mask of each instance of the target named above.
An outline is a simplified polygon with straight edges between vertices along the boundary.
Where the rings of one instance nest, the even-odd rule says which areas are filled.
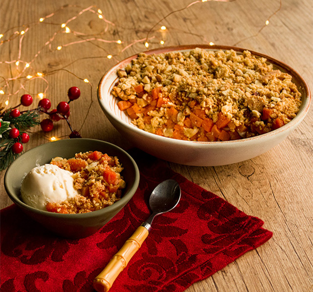
[[[48,202],[61,203],[78,195],[73,173],[53,164],[33,168],[22,181],[22,200],[27,205],[46,210]]]

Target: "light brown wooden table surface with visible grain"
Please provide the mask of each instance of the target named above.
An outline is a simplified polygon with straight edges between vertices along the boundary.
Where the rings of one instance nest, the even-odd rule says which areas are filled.
[[[23,93],[30,93],[37,103],[36,95],[44,92],[56,107],[67,100],[67,89],[77,86],[82,96],[71,104],[70,123],[83,137],[103,139],[124,149],[132,146],[105,118],[96,88],[104,72],[118,60],[146,50],[146,40],[149,49],[162,46],[160,41],[164,45],[213,42],[245,47],[287,63],[313,88],[312,0],[197,1],[189,8],[191,0],[73,2],[77,7],[63,7],[62,0],[0,2],[0,41],[4,41],[0,61],[11,62],[0,64],[0,75],[15,79],[0,98],[3,103],[8,92],[17,92],[9,96],[9,106],[14,106]],[[165,30],[160,29],[162,25]],[[26,63],[30,66],[21,73]],[[25,82],[27,75],[33,77]],[[5,85],[4,80],[0,82],[1,87]],[[218,167],[169,163],[187,179],[263,219],[265,228],[274,234],[257,250],[186,291],[313,291],[312,125],[311,109],[281,144],[244,162]],[[64,121],[47,134],[39,126],[30,132],[25,150],[49,142],[51,136],[70,133]],[[3,176],[4,171],[1,208],[12,203]]]

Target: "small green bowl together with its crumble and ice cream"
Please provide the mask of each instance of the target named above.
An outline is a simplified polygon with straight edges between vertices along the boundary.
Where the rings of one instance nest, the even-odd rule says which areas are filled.
[[[8,167],[4,186],[27,215],[66,238],[91,235],[134,196],[139,170],[111,143],[65,139],[35,147]]]

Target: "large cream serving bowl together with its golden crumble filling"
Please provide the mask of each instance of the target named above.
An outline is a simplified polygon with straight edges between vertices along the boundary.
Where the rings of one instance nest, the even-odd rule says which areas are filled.
[[[261,53],[183,45],[131,56],[105,73],[99,104],[112,125],[156,157],[216,166],[259,156],[311,103],[305,80]]]

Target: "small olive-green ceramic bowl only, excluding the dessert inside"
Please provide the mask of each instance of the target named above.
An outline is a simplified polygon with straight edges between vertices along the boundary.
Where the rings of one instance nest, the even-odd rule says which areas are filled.
[[[71,158],[75,153],[95,150],[117,156],[122,163],[124,170],[121,175],[127,185],[121,200],[101,210],[83,214],[51,213],[22,202],[20,193],[22,179],[32,168],[49,163],[53,157]],[[108,142],[83,138],[49,142],[26,151],[12,162],[4,176],[5,190],[10,199],[35,221],[66,238],[87,237],[108,223],[131,200],[138,183],[138,167],[127,152]]]

